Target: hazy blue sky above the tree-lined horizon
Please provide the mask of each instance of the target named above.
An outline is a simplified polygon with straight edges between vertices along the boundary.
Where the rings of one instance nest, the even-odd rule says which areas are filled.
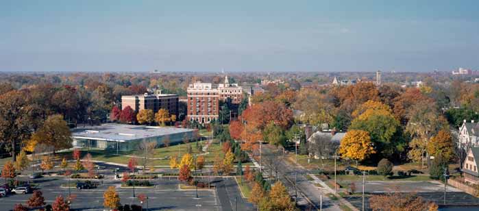
[[[0,71],[479,69],[479,1],[4,1]]]

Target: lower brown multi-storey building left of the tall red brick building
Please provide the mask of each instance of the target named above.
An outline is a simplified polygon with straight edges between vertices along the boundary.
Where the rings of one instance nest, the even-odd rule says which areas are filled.
[[[168,110],[170,114],[175,114],[178,116],[178,95],[145,93],[145,95],[121,96],[122,109],[128,105],[130,105],[135,112],[139,112],[143,109],[149,109],[156,113],[158,110],[164,108]]]

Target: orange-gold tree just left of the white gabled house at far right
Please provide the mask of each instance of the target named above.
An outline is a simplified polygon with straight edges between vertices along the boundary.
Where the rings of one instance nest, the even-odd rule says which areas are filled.
[[[443,156],[445,160],[451,160],[454,156],[454,142],[452,141],[451,133],[441,129],[428,142],[427,151],[434,157]]]

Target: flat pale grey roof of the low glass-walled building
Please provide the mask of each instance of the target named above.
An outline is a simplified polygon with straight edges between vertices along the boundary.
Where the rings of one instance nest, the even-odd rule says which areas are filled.
[[[108,123],[97,126],[77,127],[71,129],[73,138],[84,138],[90,140],[110,140],[126,142],[142,138],[166,136],[184,132],[192,132],[193,129],[177,127],[153,127],[145,125],[124,125]]]

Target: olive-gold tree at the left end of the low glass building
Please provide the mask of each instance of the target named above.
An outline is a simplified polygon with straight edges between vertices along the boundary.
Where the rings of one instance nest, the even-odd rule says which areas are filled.
[[[49,145],[53,147],[53,153],[60,149],[71,148],[70,128],[66,125],[62,115],[52,115],[47,118],[45,123],[32,136],[38,144]]]

